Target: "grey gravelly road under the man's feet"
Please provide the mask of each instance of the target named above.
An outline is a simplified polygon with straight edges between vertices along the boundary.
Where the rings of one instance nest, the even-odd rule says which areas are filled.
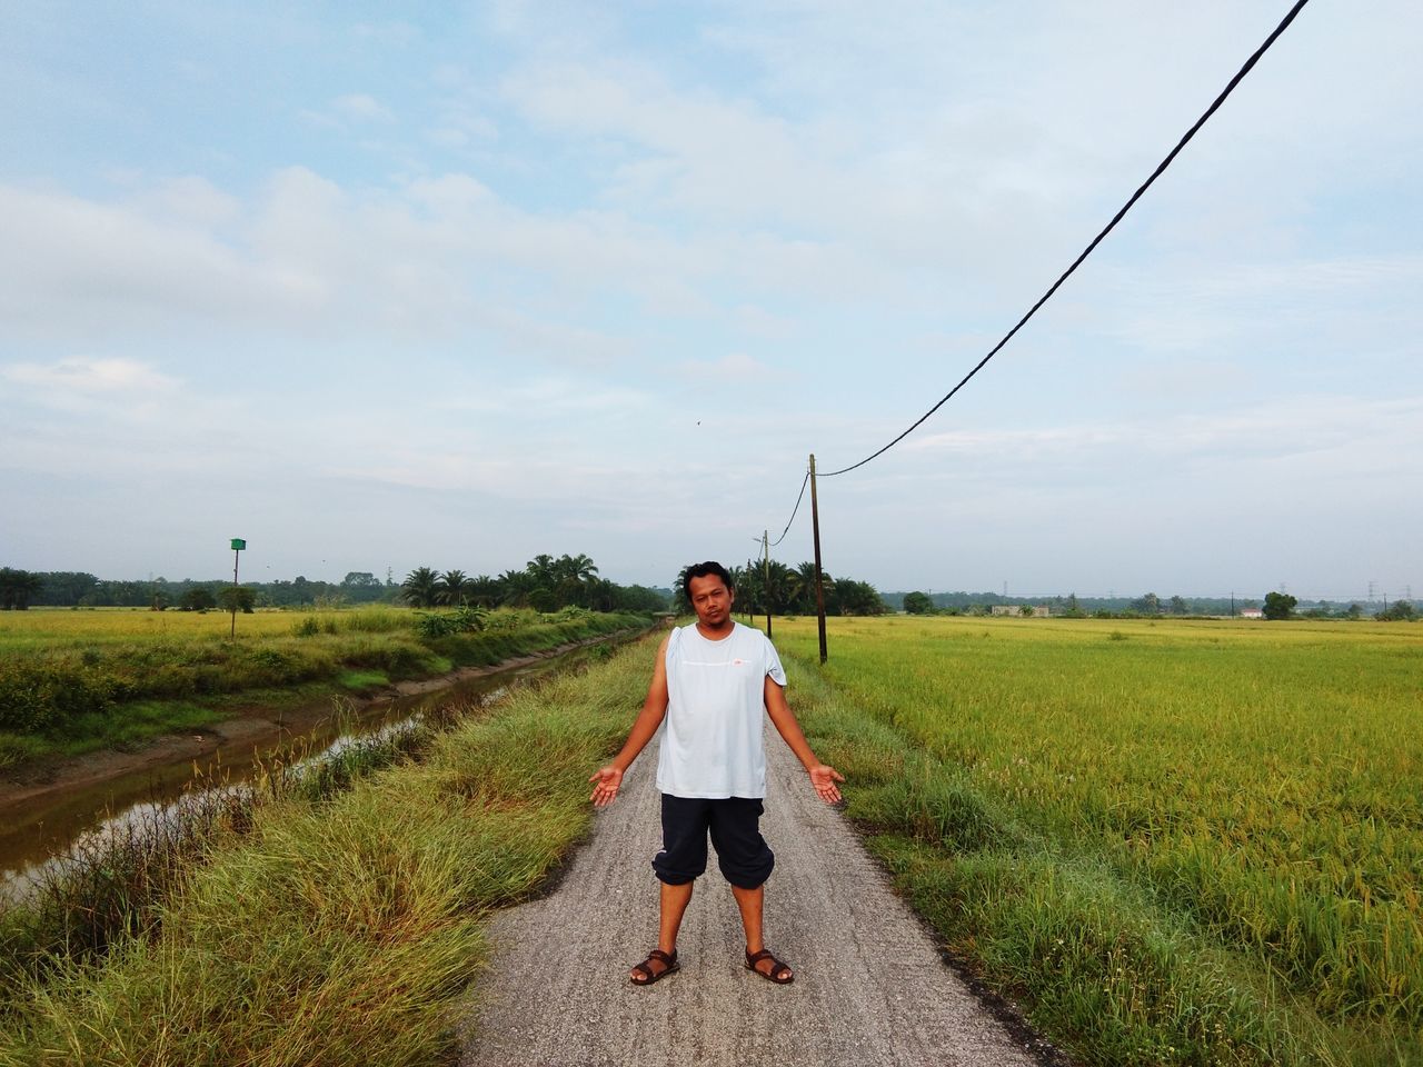
[[[558,889],[495,919],[480,1004],[461,1027],[464,1067],[1039,1063],[941,962],[774,731],[767,763],[761,832],[776,874],[766,943],[795,982],[776,986],[744,969],[714,852],[683,919],[682,970],[647,989],[628,980],[657,932],[653,744]]]

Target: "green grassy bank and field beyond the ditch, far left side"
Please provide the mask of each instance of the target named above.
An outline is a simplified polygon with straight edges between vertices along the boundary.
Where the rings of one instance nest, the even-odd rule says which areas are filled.
[[[484,630],[425,637],[420,617],[394,609],[329,613],[324,620],[268,616],[265,629],[238,642],[168,630],[71,637],[55,647],[16,642],[0,657],[0,768],[208,726],[240,706],[240,697],[363,691],[646,625],[632,615],[494,612]]]

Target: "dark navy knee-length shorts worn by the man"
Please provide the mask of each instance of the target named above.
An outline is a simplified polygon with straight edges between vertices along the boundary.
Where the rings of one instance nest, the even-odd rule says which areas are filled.
[[[662,851],[652,869],[667,885],[686,885],[707,869],[707,834],[717,866],[731,885],[754,889],[771,876],[776,855],[761,837],[761,801],[702,800],[662,794]]]

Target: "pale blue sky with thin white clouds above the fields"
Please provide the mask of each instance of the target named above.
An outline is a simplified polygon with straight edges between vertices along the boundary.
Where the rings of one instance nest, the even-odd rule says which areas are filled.
[[[757,556],[1288,7],[7,4],[0,565]],[[825,570],[1423,596],[1419,40],[1308,4],[817,479]]]

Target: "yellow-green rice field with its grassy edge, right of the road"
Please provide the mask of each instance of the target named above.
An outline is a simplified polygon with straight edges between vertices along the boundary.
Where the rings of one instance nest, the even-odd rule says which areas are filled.
[[[813,620],[776,639],[879,854],[1089,1061],[1423,1056],[1423,627],[845,619],[820,670]]]

